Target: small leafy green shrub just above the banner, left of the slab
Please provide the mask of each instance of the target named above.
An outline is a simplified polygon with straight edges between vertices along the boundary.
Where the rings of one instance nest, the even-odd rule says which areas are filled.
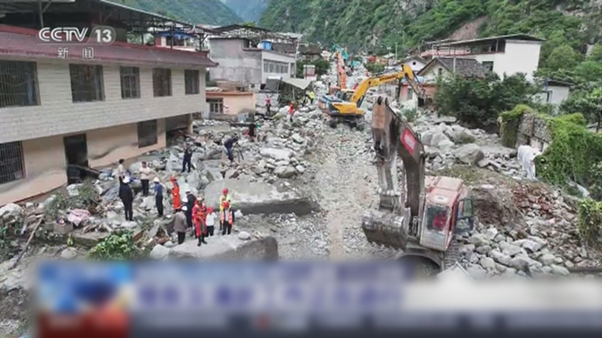
[[[88,257],[100,260],[126,260],[138,256],[138,247],[134,244],[131,231],[123,230],[111,233],[88,252]]]

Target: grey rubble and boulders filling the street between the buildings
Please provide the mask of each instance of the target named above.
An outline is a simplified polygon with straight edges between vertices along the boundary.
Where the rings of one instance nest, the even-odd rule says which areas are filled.
[[[363,73],[356,69],[349,83],[359,81]],[[334,73],[315,82],[317,97],[326,93],[329,82],[335,82]],[[375,88],[366,95],[367,119],[377,95]],[[259,124],[251,141],[244,127],[195,120],[192,134],[129,162],[135,194],[133,221],[125,220],[117,196],[119,182],[111,168],[96,180],[67,186],[62,194],[2,207],[2,225],[18,236],[2,247],[0,293],[13,301],[2,302],[0,327],[22,325],[26,303],[14,295],[26,294],[24,290],[31,287],[24,276],[36,259],[85,257],[102,239],[122,230],[131,231],[141,257],[161,260],[396,256],[393,248],[368,243],[361,230],[362,214],[378,203],[369,128],[358,131],[343,124],[330,128],[326,115],[314,105],[299,108],[292,122],[285,106]],[[600,277],[600,253],[583,245],[577,232],[576,201],[559,189],[526,181],[516,150],[501,146],[497,135],[464,128],[453,118],[419,115],[412,125],[425,145],[427,174],[461,177],[471,190],[476,226],[455,239],[460,244],[458,262],[468,274],[474,278]],[[234,134],[242,137],[235,161],[230,162],[222,144]],[[181,171],[186,146],[193,149],[190,173]],[[142,160],[166,188],[163,218],[158,217],[152,186],[148,197],[141,194]],[[228,187],[237,210],[232,235],[222,236],[216,229],[206,245],[198,247],[191,235],[176,245],[170,177],[177,180],[182,200],[190,190],[214,207]],[[27,246],[26,239],[35,229],[35,239]],[[17,262],[23,250],[24,258]]]

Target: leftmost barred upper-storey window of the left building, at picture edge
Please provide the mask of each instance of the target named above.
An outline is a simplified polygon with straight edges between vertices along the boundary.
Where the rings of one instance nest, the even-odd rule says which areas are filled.
[[[39,104],[36,63],[0,61],[0,107]]]

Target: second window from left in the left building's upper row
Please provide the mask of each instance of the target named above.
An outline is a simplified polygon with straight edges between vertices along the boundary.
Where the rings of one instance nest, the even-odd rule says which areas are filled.
[[[73,102],[102,101],[102,66],[70,64],[71,95]]]

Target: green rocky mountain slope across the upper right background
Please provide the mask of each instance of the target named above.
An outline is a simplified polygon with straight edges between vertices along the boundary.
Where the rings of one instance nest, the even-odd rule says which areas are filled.
[[[537,35],[548,40],[542,58],[565,44],[583,54],[602,37],[598,0],[271,0],[259,25],[351,50],[383,52],[397,43],[403,52],[483,16],[479,36]]]

